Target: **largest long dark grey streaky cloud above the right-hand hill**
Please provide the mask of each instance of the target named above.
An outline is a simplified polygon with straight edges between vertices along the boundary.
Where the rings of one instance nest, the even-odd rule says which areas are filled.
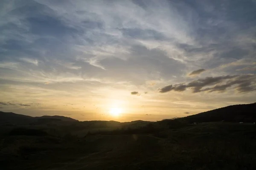
[[[207,92],[224,92],[227,88],[236,85],[236,91],[249,92],[256,90],[256,75],[245,74],[236,76],[220,76],[220,77],[206,77],[204,79],[197,79],[189,83],[182,83],[177,85],[168,85],[160,89],[160,93],[166,93],[168,91],[185,91],[186,89],[192,89],[193,93],[201,91]],[[211,86],[211,87],[209,87]]]

